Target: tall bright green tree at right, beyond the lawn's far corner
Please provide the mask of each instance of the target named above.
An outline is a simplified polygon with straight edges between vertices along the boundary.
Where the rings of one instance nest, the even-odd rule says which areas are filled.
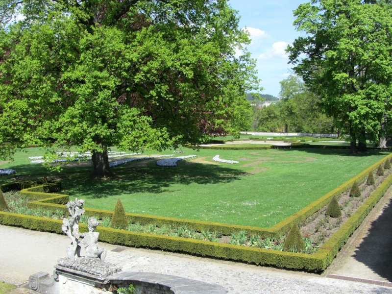
[[[312,0],[294,11],[304,36],[289,46],[294,71],[349,134],[352,151],[385,136],[392,93],[390,0]]]

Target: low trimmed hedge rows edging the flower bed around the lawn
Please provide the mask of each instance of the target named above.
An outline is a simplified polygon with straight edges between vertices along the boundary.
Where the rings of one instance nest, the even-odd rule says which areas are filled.
[[[304,220],[307,216],[310,216],[319,208],[323,207],[328,203],[332,197],[346,191],[350,188],[354,181],[362,181],[366,178],[369,171],[373,171],[377,166],[383,163],[385,160],[389,160],[392,154],[386,156],[386,158],[380,160],[374,165],[370,166],[368,169],[359,173],[357,176],[353,177],[343,185],[334,189],[330,193],[321,197],[319,200],[314,201],[312,204],[303,208],[299,212],[295,213],[288,219],[281,221],[271,228],[255,228],[239,225],[226,225],[221,223],[212,223],[207,221],[188,221],[179,220],[173,218],[156,218],[153,216],[144,216],[137,214],[126,214],[128,219],[134,222],[149,223],[154,222],[158,225],[164,223],[177,223],[177,224],[188,224],[190,227],[196,230],[205,230],[210,228],[229,235],[227,232],[233,232],[245,229],[249,233],[257,232],[263,237],[269,237],[274,235],[286,233],[286,228],[291,225],[297,224],[299,221]],[[261,249],[255,247],[245,247],[240,245],[231,244],[221,244],[215,242],[207,242],[195,239],[187,239],[180,237],[162,236],[154,234],[136,233],[120,229],[99,228],[99,240],[103,242],[108,242],[111,244],[119,244],[134,247],[147,247],[147,248],[159,248],[163,250],[170,251],[180,251],[191,254],[196,254],[200,256],[209,256],[215,258],[222,258],[228,260],[235,260],[241,262],[252,263],[256,265],[273,265],[280,268],[288,269],[300,269],[309,271],[323,271],[332,262],[333,258],[336,256],[338,251],[346,243],[349,236],[355,231],[355,229],[362,223],[368,212],[373,208],[373,206],[378,202],[378,200],[385,194],[385,192],[392,185],[392,174],[381,183],[381,185],[368,197],[368,199],[358,208],[358,210],[341,226],[341,228],[333,234],[328,241],[322,245],[319,250],[314,254],[305,253],[293,253],[284,252],[271,249]],[[39,198],[40,200],[35,200],[29,203],[29,205],[37,205],[47,208],[62,208],[66,209],[64,205],[59,205],[53,203],[53,201],[64,201],[68,196],[61,196],[53,194],[46,194],[44,192],[34,192],[30,190],[37,190],[39,188],[34,187],[33,189],[25,189],[21,193],[25,195]],[[41,197],[37,196],[41,195]],[[50,195],[50,198],[45,198]],[[44,197],[45,196],[45,197]],[[60,200],[58,200],[60,199]],[[68,200],[67,200],[68,201]],[[86,214],[89,216],[111,216],[113,212],[106,210],[93,210],[86,208]],[[143,221],[141,221],[143,220]],[[8,212],[0,212],[0,223],[5,225],[15,225],[21,226],[28,229],[39,230],[39,231],[49,231],[61,234],[61,220],[52,220],[47,218],[32,217]],[[87,231],[87,225],[80,224],[80,231]],[[286,231],[285,231],[286,230]]]

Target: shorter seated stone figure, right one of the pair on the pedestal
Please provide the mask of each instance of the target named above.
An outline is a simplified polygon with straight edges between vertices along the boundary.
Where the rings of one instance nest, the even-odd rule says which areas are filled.
[[[106,249],[98,247],[98,236],[99,233],[96,232],[96,228],[99,222],[95,218],[89,218],[88,220],[88,233],[83,233],[80,237],[83,238],[81,244],[84,245],[86,250],[86,256],[89,258],[99,258],[100,260],[105,260]]]

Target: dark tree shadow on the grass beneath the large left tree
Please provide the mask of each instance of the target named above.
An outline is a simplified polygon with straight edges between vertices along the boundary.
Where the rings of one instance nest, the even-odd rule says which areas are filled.
[[[178,167],[158,167],[153,162],[129,164],[112,168],[113,178],[94,180],[91,167],[64,167],[62,172],[49,172],[40,165],[13,167],[18,174],[5,176],[1,182],[43,178],[60,178],[64,194],[86,198],[106,198],[120,194],[154,193],[169,191],[175,184],[189,185],[227,183],[240,178],[245,172],[218,165],[179,162]],[[170,189],[173,191],[172,189]]]

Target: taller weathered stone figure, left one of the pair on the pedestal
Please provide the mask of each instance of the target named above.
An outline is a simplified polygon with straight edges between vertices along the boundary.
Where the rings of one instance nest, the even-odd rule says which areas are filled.
[[[84,200],[70,201],[67,203],[67,208],[70,213],[70,217],[63,219],[61,230],[71,238],[71,245],[67,247],[67,257],[74,259],[80,257],[80,245],[79,245],[79,221],[81,215],[84,213],[83,209]]]

